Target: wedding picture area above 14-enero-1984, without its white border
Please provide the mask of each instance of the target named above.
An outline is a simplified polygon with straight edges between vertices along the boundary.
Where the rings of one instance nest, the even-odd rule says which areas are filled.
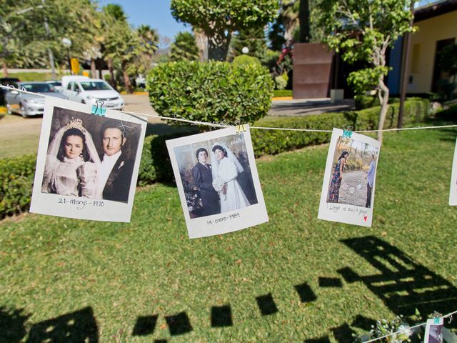
[[[191,219],[257,204],[243,134],[175,148]]]

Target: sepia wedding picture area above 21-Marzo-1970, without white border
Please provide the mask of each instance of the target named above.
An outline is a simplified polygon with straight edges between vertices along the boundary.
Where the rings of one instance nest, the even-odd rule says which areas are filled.
[[[129,202],[141,125],[55,106],[41,192]]]

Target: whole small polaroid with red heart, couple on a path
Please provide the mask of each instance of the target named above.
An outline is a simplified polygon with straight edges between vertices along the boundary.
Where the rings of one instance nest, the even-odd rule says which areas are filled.
[[[380,148],[376,139],[333,129],[318,219],[371,227]]]

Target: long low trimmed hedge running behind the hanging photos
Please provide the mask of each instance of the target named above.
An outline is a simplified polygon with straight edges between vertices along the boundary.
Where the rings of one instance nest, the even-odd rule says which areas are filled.
[[[426,99],[413,99],[405,103],[404,124],[423,121],[429,115]],[[354,130],[377,128],[379,107],[348,111],[345,113],[316,114],[302,117],[268,117],[257,121],[255,126],[289,127],[296,129],[332,129],[351,125]],[[398,120],[398,104],[389,106],[385,129],[395,127]],[[173,171],[166,140],[189,136],[195,132],[181,132],[164,136],[151,135],[144,139],[143,154],[139,169],[138,184],[144,186],[154,182],[171,182]],[[302,132],[252,129],[254,154],[263,156],[283,151],[300,149],[304,146],[323,144],[330,141],[326,132]],[[36,156],[26,155],[12,159],[0,159],[0,219],[24,212],[29,208],[34,181]]]

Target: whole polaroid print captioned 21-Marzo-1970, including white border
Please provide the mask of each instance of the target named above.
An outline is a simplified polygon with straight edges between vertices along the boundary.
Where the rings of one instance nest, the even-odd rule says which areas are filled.
[[[47,97],[30,212],[130,222],[146,124]]]

